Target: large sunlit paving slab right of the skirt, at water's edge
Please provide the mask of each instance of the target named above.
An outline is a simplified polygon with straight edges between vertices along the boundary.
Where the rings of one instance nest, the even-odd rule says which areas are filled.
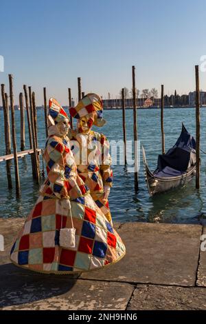
[[[118,233],[126,256],[107,269],[84,273],[92,280],[193,286],[202,226],[124,223]]]

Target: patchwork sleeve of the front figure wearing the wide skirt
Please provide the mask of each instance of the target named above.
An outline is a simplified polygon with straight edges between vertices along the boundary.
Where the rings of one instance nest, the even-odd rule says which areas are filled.
[[[49,187],[59,199],[63,197],[69,198],[66,181],[71,168],[67,167],[67,165],[65,166],[64,152],[64,145],[54,139],[49,141],[45,152]]]

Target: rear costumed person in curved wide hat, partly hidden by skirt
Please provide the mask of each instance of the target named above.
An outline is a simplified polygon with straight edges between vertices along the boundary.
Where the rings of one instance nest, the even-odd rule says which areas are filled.
[[[77,130],[71,130],[69,134],[74,144],[73,153],[78,174],[89,188],[93,200],[112,225],[108,206],[108,195],[113,183],[109,143],[104,134],[91,130],[93,125],[102,127],[106,123],[102,118],[102,99],[98,94],[89,93],[75,108],[70,108],[69,112],[71,117],[78,119]],[[87,150],[87,159],[83,157],[84,148]]]

